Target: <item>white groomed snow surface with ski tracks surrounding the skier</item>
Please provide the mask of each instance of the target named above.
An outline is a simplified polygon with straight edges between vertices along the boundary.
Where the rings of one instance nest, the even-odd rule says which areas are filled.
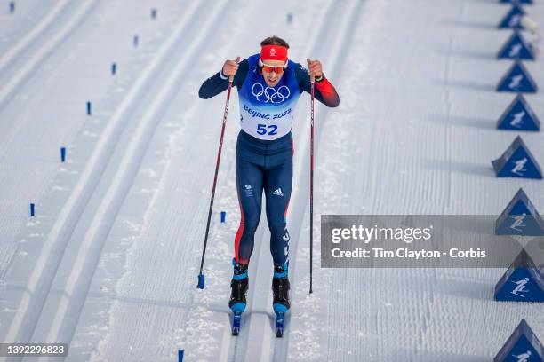
[[[542,24],[536,2],[526,10]],[[542,181],[498,179],[490,166],[516,135],[495,130],[514,97],[494,91],[510,64],[494,59],[508,6],[269,4],[28,0],[0,12],[0,341],[68,342],[69,361],[172,361],[185,350],[194,361],[470,362],[492,360],[522,318],[543,339],[541,305],[492,301],[501,269],[319,268],[321,214],[498,215],[520,186],[544,209]],[[323,62],[340,107],[316,106],[314,293],[305,96],[293,129],[287,331],[273,334],[263,216],[248,312],[232,337],[237,95],[199,290],[225,98],[196,93],[224,59],[272,34],[288,40],[292,59]],[[537,83],[542,61],[526,62]],[[542,118],[542,93],[526,98]],[[542,133],[523,138],[539,159]]]

